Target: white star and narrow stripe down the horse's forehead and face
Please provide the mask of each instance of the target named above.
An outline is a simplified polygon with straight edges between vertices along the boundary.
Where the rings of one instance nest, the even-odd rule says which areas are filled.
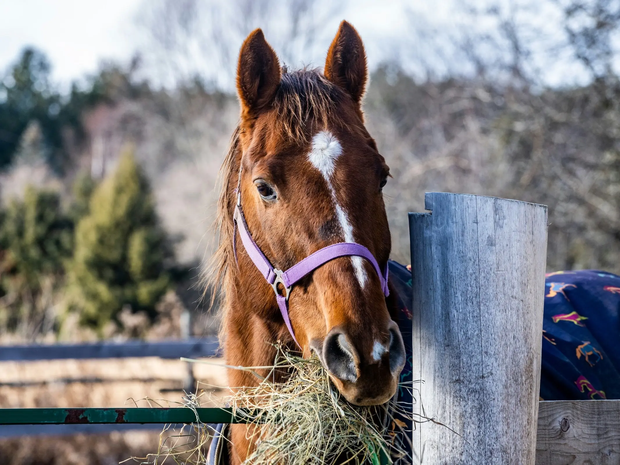
[[[348,219],[347,212],[339,205],[334,186],[332,185],[332,175],[334,175],[336,160],[341,154],[342,146],[338,139],[329,131],[321,131],[312,138],[312,150],[308,154],[308,160],[312,163],[312,166],[321,172],[325,182],[327,182],[327,187],[329,187],[329,191],[332,194],[332,200],[334,200],[336,218],[338,218],[338,223],[340,228],[342,228],[345,242],[355,242],[353,226]],[[353,263],[355,276],[363,289],[367,276],[362,259],[361,257],[354,256],[351,257],[351,262]]]

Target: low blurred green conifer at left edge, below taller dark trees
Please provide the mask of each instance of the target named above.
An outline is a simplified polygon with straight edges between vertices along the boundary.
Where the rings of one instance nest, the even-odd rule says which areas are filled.
[[[56,192],[27,187],[0,223],[0,328],[27,340],[56,323],[56,292],[73,250],[73,222]]]

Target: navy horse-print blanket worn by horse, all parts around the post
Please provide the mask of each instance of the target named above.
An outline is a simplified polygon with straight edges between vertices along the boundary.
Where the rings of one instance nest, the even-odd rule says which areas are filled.
[[[397,408],[391,412],[396,421],[387,425],[387,434],[410,453],[406,436],[413,428],[411,271],[393,261],[388,266],[407,361]],[[541,400],[620,399],[620,276],[597,270],[548,273],[541,336]],[[225,455],[219,441],[222,426],[211,443],[210,465],[222,462],[219,450]]]

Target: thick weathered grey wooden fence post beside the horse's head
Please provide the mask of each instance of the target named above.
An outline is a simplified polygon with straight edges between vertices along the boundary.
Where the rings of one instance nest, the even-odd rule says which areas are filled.
[[[417,425],[414,460],[534,465],[547,207],[440,192],[425,203],[432,213],[409,214],[414,414],[434,422]]]

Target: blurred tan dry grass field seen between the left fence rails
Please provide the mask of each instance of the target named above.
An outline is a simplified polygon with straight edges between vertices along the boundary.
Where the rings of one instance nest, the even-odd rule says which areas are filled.
[[[223,363],[218,358],[209,360]],[[193,366],[198,388],[209,391],[205,400],[210,396],[217,399],[223,391],[215,386],[227,385],[224,368],[201,363]],[[155,357],[2,362],[0,408],[148,407],[148,401],[139,400],[145,398],[172,407],[182,401],[186,375],[184,362]],[[154,453],[159,440],[156,430],[0,438],[0,464],[111,465]]]

